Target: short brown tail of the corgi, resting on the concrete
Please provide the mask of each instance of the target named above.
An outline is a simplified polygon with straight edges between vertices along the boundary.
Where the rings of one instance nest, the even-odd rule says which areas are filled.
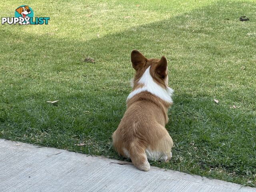
[[[132,142],[130,145],[130,158],[134,166],[139,170],[148,171],[150,170],[150,164],[148,163],[145,147],[139,142]]]

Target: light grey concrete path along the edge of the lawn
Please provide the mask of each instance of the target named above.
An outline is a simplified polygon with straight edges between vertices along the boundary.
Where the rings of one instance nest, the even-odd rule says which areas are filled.
[[[0,139],[0,192],[256,192],[220,180]]]

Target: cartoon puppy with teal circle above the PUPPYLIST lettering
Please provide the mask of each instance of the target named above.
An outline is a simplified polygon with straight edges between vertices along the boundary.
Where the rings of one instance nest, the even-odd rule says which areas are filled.
[[[30,18],[33,18],[33,16],[34,16],[34,12],[29,6],[22,5],[16,9],[14,16],[16,18],[24,18],[18,22],[20,25],[22,25],[22,24],[28,25],[28,24],[30,24],[30,21],[29,21]]]

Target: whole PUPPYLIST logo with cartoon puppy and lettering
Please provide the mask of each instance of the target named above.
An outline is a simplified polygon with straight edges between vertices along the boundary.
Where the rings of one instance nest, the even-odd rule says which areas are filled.
[[[2,25],[7,24],[20,24],[20,25],[42,25],[48,24],[50,17],[36,17],[33,19],[34,12],[30,6],[22,5],[16,8],[14,17],[2,17]]]

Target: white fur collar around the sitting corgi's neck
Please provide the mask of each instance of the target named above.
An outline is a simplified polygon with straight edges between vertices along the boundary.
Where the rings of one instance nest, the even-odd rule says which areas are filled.
[[[132,91],[128,95],[126,102],[128,101],[128,99],[132,98],[136,94],[143,92],[143,91],[147,91],[147,92],[152,93],[155,96],[158,96],[160,99],[162,99],[168,103],[172,103],[171,96],[172,96],[173,90],[168,86],[167,86],[167,89],[164,89],[160,85],[158,85],[153,80],[152,76],[150,75],[149,70],[150,70],[150,66],[146,69],[146,71],[144,72],[144,74],[142,75],[142,77],[140,78],[140,80],[138,82],[139,84],[142,84],[143,87]]]

